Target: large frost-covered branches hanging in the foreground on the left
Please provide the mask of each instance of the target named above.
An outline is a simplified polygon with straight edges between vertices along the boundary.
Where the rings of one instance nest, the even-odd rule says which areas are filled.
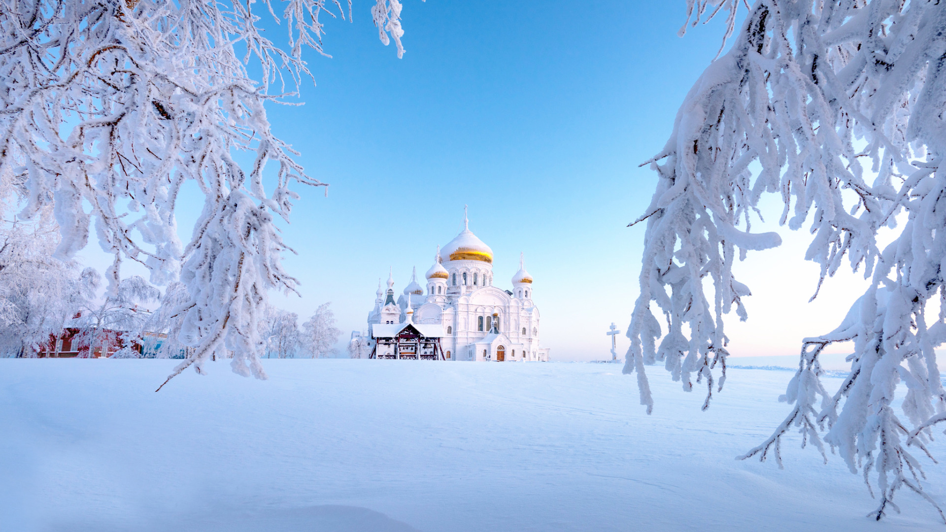
[[[289,220],[291,183],[324,184],[272,134],[264,104],[310,76],[302,50],[323,53],[320,16],[344,16],[338,0],[326,4],[288,0],[279,17],[271,0],[0,0],[0,175],[25,180],[22,218],[53,205],[58,257],[84,247],[95,221],[114,255],[109,293],[126,259],[155,284],[180,277],[190,294],[182,334],[195,351],[175,375],[227,351],[237,373],[265,378],[258,313],[267,291],[296,284],[273,217]],[[400,11],[398,0],[372,7],[398,56]],[[262,16],[286,23],[287,49],[264,37]],[[235,151],[254,152],[250,168]],[[187,182],[204,203],[183,245],[175,208]]]

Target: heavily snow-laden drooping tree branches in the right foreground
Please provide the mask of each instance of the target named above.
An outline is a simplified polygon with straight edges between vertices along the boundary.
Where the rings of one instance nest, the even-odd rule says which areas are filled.
[[[645,163],[658,182],[637,221],[647,227],[624,372],[638,372],[648,412],[644,364],[657,361],[685,390],[694,374],[706,380],[709,406],[712,370],[717,390],[726,379],[724,316],[733,308],[747,316],[749,288],[732,265],[780,244],[775,233],[751,232],[762,195],[779,194],[780,223],[810,223],[805,258],[821,266],[819,287],[845,256],[871,283],[841,327],[804,340],[783,397],[796,408],[746,456],[778,459],[780,438],[797,427],[822,452],[823,443],[836,449],[851,472],[874,474],[877,519],[899,488],[934,503],[907,443],[926,452],[930,426],[946,420],[934,352],[946,341],[946,9],[930,0],[757,0],[737,29],[741,4],[688,1],[692,24],[728,11],[734,41]],[[878,232],[901,220],[899,238],[879,249]],[[931,301],[938,315],[927,315]],[[850,375],[831,395],[817,357],[848,340]],[[892,408],[901,381],[913,429]]]

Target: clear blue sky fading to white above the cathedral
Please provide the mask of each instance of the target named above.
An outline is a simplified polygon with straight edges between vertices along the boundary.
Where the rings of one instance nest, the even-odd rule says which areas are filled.
[[[552,358],[608,357],[604,332],[611,322],[626,328],[638,295],[643,227],[626,225],[656,179],[638,165],[666,142],[723,21],[679,38],[682,0],[404,0],[398,60],[377,39],[371,5],[355,0],[351,24],[324,17],[333,57],[307,54],[317,85],[302,87],[304,106],[269,109],[274,132],[331,185],[327,198],[296,188],[284,237],[298,256],[285,265],[302,297],[272,302],[301,322],[331,301],[344,341],[366,328],[378,277],[393,268],[400,291],[413,266],[423,275],[468,204],[499,287],[509,288],[525,253]],[[284,38],[270,26],[272,39]],[[182,212],[182,226],[194,216]],[[754,297],[750,321],[727,324],[736,355],[796,353],[801,336],[825,331],[823,311],[843,315],[858,292],[856,279],[837,281],[806,307],[817,267],[800,263],[805,235],[780,233],[783,249],[737,267]],[[805,312],[786,320],[789,309]]]

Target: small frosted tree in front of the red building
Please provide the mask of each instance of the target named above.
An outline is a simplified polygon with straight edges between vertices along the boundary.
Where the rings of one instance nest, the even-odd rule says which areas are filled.
[[[81,314],[70,324],[79,328],[75,341],[79,346],[88,347],[90,357],[96,349],[101,350],[102,356],[107,355],[109,345],[117,340],[116,334],[122,335],[126,346],[131,342],[141,343],[143,328],[150,317],[150,311],[143,306],[158,301],[160,296],[161,291],[141,275],[122,279],[114,293],[106,293],[101,303],[80,309]],[[131,356],[128,352],[124,354],[124,358]]]

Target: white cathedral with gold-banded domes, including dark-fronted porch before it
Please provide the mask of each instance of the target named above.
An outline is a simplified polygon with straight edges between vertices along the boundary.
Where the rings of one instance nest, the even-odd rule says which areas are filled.
[[[441,260],[441,254],[447,257]],[[527,362],[548,361],[539,346],[539,314],[533,303],[533,278],[519,256],[513,290],[493,286],[493,250],[469,230],[450,240],[427,272],[427,295],[417,283],[394,300],[377,285],[375,308],[368,314],[369,358]],[[358,336],[353,333],[353,340]]]

